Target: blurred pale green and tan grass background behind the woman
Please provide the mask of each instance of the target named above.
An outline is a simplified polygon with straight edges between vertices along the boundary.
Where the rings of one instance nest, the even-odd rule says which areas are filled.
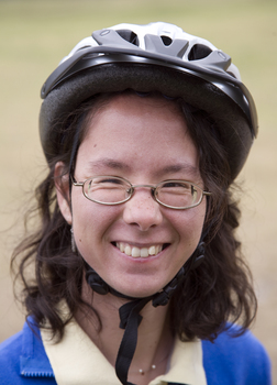
[[[259,300],[253,332],[269,352],[276,385],[276,0],[0,0],[0,341],[24,320],[14,304],[9,263],[23,232],[24,200],[45,173],[40,89],[59,59],[93,30],[159,20],[226,52],[256,101],[258,140],[239,177],[244,189],[240,237]]]

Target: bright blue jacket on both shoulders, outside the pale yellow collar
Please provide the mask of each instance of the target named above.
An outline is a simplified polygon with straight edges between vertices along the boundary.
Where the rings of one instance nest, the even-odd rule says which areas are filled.
[[[0,344],[1,385],[56,384],[40,330],[30,326]],[[202,341],[202,348],[208,385],[272,384],[268,355],[250,331],[239,338],[222,332],[214,343]]]

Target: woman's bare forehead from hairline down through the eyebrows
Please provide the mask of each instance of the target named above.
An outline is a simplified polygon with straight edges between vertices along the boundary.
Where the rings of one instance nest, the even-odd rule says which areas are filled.
[[[185,117],[164,97],[121,95],[108,100],[88,120],[77,158],[95,167],[198,168]]]

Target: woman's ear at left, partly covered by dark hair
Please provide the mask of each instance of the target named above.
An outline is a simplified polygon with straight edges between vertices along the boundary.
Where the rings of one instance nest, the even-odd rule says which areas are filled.
[[[59,210],[68,224],[73,224],[73,215],[70,208],[69,178],[65,173],[65,164],[57,162],[55,165],[54,180],[56,187],[57,201]]]

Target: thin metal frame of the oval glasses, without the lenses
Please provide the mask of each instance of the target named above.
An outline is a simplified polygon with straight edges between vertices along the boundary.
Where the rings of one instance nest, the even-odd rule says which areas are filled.
[[[124,180],[125,183],[128,183],[130,185],[130,196],[126,198],[126,199],[123,199],[119,202],[101,202],[101,201],[98,201],[96,199],[91,199],[89,198],[87,195],[86,195],[86,191],[85,191],[85,184],[88,182],[88,180],[91,180],[93,178],[97,178],[97,177],[111,177],[111,178],[117,178],[117,179],[121,179],[121,180]],[[122,204],[125,204],[126,201],[129,201],[133,195],[134,195],[134,191],[135,191],[135,188],[136,187],[148,187],[151,188],[151,195],[152,195],[152,198],[157,202],[159,204],[160,206],[164,206],[166,208],[169,208],[169,209],[173,209],[173,210],[187,210],[187,209],[191,209],[193,207],[197,207],[199,206],[202,200],[203,200],[203,197],[204,196],[211,196],[212,193],[210,191],[206,191],[203,190],[201,187],[199,187],[198,185],[193,184],[192,182],[189,182],[189,180],[184,180],[184,179],[166,179],[166,180],[162,180],[159,182],[157,185],[132,185],[131,182],[129,182],[128,179],[123,178],[123,177],[120,177],[120,176],[114,176],[114,175],[95,175],[95,176],[91,176],[89,178],[87,178],[86,180],[84,182],[77,182],[75,179],[75,177],[73,175],[70,175],[70,179],[71,179],[71,183],[74,186],[76,187],[82,187],[82,195],[85,196],[85,198],[87,198],[88,200],[92,201],[92,202],[96,202],[96,204],[99,204],[99,205],[104,205],[104,206],[117,206],[117,205],[122,205]],[[157,187],[165,183],[165,182],[181,182],[181,183],[188,183],[190,185],[192,185],[193,187],[197,187],[201,190],[202,195],[201,195],[201,198],[199,200],[199,202],[195,204],[195,205],[191,205],[191,206],[188,206],[188,207],[174,207],[174,206],[169,206],[169,205],[166,205],[164,202],[162,202],[160,200],[158,200],[158,198],[156,197],[156,190],[157,190]]]

